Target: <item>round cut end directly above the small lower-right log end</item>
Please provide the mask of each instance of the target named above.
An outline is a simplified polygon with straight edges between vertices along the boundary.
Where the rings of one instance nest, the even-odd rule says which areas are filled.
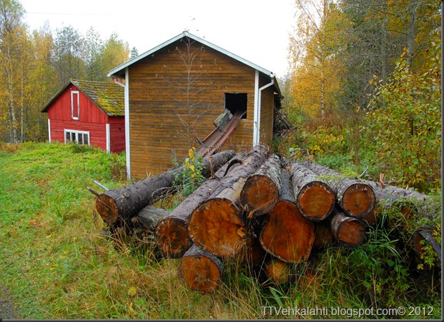
[[[351,217],[362,218],[372,212],[376,197],[372,187],[365,183],[354,183],[348,187],[341,199],[342,209]]]

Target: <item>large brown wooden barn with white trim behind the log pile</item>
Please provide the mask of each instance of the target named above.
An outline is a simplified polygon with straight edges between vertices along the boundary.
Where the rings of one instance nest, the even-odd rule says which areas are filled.
[[[281,100],[273,72],[187,31],[108,76],[125,85],[129,178],[163,172],[190,147],[205,146],[213,121],[227,110],[240,120],[219,139],[218,149],[250,149],[273,138]]]

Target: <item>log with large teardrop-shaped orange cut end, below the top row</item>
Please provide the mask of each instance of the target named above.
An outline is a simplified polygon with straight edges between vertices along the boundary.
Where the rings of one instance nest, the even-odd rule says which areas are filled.
[[[290,174],[282,169],[282,191],[293,191]],[[292,194],[284,194],[259,236],[264,250],[286,263],[306,261],[314,242],[314,223],[301,215]]]

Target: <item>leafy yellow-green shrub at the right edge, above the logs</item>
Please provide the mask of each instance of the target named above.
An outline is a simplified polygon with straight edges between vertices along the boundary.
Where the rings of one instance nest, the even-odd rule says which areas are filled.
[[[415,75],[402,55],[387,83],[371,81],[378,87],[363,128],[381,172],[425,192],[440,184],[441,169],[441,58],[431,58],[429,70]]]

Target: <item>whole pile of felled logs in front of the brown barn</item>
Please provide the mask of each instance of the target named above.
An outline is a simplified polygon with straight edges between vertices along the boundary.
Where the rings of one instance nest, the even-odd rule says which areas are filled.
[[[162,256],[181,259],[187,286],[204,293],[217,287],[224,260],[242,259],[280,282],[288,279],[289,264],[307,261],[312,250],[358,247],[381,205],[410,192],[313,162],[289,162],[263,145],[216,153],[204,164],[204,183],[172,211],[151,205],[172,187],[180,167],[98,194],[96,201],[111,231],[143,227]]]

